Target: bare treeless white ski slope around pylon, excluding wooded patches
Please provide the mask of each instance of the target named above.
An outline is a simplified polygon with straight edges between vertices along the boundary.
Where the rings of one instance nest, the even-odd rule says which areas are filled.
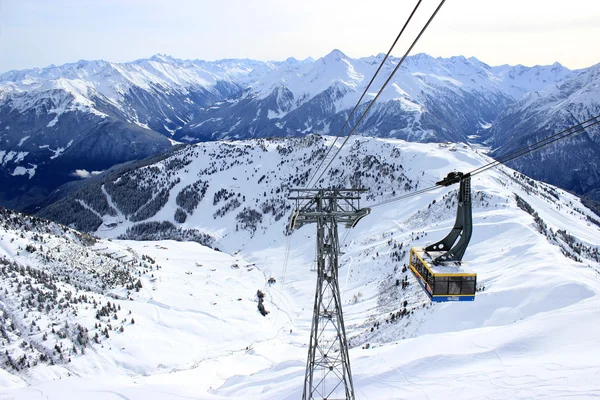
[[[422,187],[452,169],[468,171],[487,162],[470,148],[450,152],[435,144],[355,141],[361,154],[380,159],[400,149],[405,174]],[[285,178],[294,168],[279,164],[275,146],[268,144],[262,153],[258,176],[278,170]],[[351,148],[356,146],[349,143],[336,163],[356,156]],[[200,166],[194,163],[203,162],[208,161],[195,160],[186,169],[195,173]],[[248,201],[262,196],[264,187],[241,177],[225,169],[211,182],[239,186]],[[278,185],[275,178],[272,187]],[[188,183],[182,179],[181,185]],[[209,189],[209,198],[211,190],[217,188]],[[394,261],[394,245],[408,253],[411,246],[443,237],[454,223],[455,190],[374,208],[354,230],[340,229],[340,289],[356,398],[600,396],[600,264],[556,234],[566,230],[582,249],[599,248],[600,227],[590,223],[594,215],[575,196],[532,184],[504,167],[477,175],[473,237],[465,256],[482,289],[476,300],[432,304],[410,275],[406,290],[395,286],[407,274],[401,271],[407,259]],[[548,235],[518,206],[515,194],[536,211]],[[386,196],[377,194],[365,204]],[[300,398],[315,288],[314,227],[291,235],[285,265],[286,218],[266,219],[254,234],[235,233],[232,216],[206,218],[214,209],[203,204],[186,227],[218,233],[224,252],[197,243],[103,240],[150,256],[162,267],[145,275],[134,300],[114,300],[131,309],[135,324],[70,363],[20,376],[2,372],[6,389],[0,393],[12,399]],[[156,219],[171,218],[171,203],[165,207]],[[123,232],[128,224],[103,235]],[[268,285],[270,277],[277,282]],[[259,289],[266,293],[266,317],[257,311]],[[409,315],[389,322],[405,300]]]

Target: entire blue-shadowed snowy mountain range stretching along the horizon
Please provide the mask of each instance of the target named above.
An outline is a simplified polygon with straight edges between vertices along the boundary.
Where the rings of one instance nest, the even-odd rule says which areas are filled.
[[[1,74],[0,204],[35,207],[61,184],[161,153],[173,140],[336,135],[382,57],[352,59],[339,50],[282,62],[157,55]],[[365,101],[398,61],[388,60]],[[482,142],[494,155],[506,154],[600,114],[598,69],[491,67],[475,58],[418,54],[407,58],[357,134]],[[514,167],[580,194],[597,190],[598,132]]]

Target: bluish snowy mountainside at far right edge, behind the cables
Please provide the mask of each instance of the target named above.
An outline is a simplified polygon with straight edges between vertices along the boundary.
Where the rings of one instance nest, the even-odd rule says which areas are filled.
[[[510,154],[600,115],[600,64],[579,71],[508,107],[487,132],[494,157]],[[561,140],[510,164],[527,174],[579,194],[600,187],[600,127]]]

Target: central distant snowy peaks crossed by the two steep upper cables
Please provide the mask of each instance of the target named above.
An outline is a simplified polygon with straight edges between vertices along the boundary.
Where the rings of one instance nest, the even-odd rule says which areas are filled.
[[[203,110],[175,138],[193,142],[335,135],[383,57],[352,59],[334,50],[314,62],[287,60],[238,98]],[[399,61],[388,59],[365,102],[375,96]],[[490,67],[475,58],[418,54],[406,60],[358,132],[420,142],[466,142],[523,94],[571,74],[560,64]]]

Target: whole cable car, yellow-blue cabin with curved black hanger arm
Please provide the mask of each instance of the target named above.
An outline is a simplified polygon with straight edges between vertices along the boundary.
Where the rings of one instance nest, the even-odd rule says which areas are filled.
[[[439,242],[410,249],[410,270],[432,301],[475,300],[477,274],[462,262],[473,232],[471,176],[451,172],[436,184],[454,183],[460,183],[454,227]]]

